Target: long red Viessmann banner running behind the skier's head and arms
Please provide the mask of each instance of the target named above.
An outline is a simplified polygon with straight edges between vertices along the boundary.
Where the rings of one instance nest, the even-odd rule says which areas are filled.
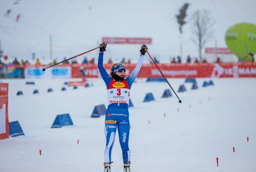
[[[72,66],[72,78],[81,78],[82,65]],[[124,64],[128,76],[136,64]],[[110,73],[112,64],[104,64],[107,73]],[[167,78],[207,78],[207,77],[256,77],[255,62],[238,63],[176,63],[158,64],[162,73]],[[87,78],[99,78],[100,72],[97,64],[87,66],[85,69]],[[162,77],[154,64],[143,64],[137,77]]]

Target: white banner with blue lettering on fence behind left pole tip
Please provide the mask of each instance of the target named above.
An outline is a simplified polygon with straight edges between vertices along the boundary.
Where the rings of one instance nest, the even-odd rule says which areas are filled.
[[[25,78],[71,78],[71,67],[53,67],[45,71],[42,68],[25,68]]]

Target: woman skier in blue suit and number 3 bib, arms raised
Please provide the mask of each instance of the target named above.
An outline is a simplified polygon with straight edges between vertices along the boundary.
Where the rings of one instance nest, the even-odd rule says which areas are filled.
[[[131,85],[134,82],[143,62],[144,55],[148,50],[146,45],[142,45],[139,61],[130,76],[125,79],[124,65],[117,63],[111,68],[110,76],[103,67],[103,53],[106,51],[106,43],[101,43],[98,60],[98,68],[107,86],[108,109],[105,118],[106,148],[104,151],[104,172],[110,172],[112,149],[115,143],[116,130],[118,129],[119,142],[122,148],[124,161],[124,172],[130,172],[130,150],[129,141],[129,96]]]

